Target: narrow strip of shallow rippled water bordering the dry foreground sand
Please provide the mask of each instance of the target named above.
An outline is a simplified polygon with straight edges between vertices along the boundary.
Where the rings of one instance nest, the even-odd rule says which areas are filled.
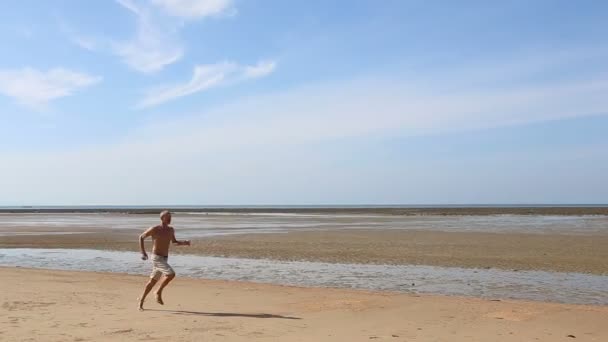
[[[336,287],[608,305],[608,276],[435,266],[281,262],[190,255],[170,257],[181,276],[307,287]],[[133,252],[0,249],[1,266],[148,274]]]

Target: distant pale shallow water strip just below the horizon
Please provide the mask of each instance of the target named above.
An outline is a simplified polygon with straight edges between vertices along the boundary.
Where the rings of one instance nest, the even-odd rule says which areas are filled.
[[[20,231],[143,230],[158,224],[156,215],[118,213],[0,214],[0,233]],[[173,224],[186,238],[302,230],[420,229],[465,232],[596,234],[608,232],[607,216],[396,216],[345,214],[176,213]],[[42,233],[41,233],[42,234]]]

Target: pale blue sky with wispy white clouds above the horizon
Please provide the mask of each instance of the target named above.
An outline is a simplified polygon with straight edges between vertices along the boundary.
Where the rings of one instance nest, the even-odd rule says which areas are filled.
[[[608,2],[24,0],[0,205],[608,203]]]

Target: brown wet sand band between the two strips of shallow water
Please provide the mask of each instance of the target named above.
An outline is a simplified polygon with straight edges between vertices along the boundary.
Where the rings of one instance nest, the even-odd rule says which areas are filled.
[[[138,250],[140,231],[87,231],[87,234],[74,235],[2,236],[0,248]],[[179,238],[179,229],[177,235]],[[174,247],[172,253],[608,275],[608,232],[577,235],[415,230],[306,231],[196,239],[192,247]]]

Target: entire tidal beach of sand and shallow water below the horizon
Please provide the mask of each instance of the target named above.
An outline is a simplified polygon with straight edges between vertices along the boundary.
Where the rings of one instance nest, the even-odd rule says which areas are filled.
[[[157,215],[5,212],[0,340],[608,339],[603,209],[492,210],[178,212],[193,245],[144,312],[137,236]]]

